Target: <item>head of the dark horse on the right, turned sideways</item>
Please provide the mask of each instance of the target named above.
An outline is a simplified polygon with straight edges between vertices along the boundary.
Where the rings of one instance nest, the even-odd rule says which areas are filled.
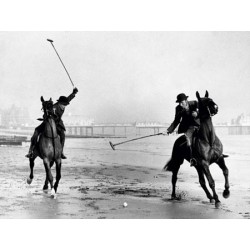
[[[200,118],[208,118],[218,113],[218,105],[209,98],[207,90],[204,97],[200,97],[199,92],[196,91],[196,97],[198,99]]]

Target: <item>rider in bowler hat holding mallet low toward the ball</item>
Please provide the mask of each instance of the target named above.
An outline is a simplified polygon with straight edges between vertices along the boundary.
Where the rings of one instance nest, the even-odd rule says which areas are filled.
[[[200,126],[200,120],[198,118],[199,109],[197,101],[188,101],[187,99],[188,96],[184,93],[177,95],[176,102],[179,104],[175,108],[175,118],[166,133],[171,134],[180,124],[178,134],[184,133],[190,153],[190,166],[195,166],[197,162],[192,154],[192,141],[193,133]]]

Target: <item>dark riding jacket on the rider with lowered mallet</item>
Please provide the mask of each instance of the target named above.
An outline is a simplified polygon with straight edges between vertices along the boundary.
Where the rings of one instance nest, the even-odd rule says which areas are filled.
[[[197,101],[188,101],[189,110],[182,108],[180,105],[175,108],[175,118],[171,123],[167,131],[169,133],[174,132],[175,128],[178,127],[178,134],[185,133],[189,127],[199,127],[200,120],[197,117],[192,116],[192,112],[196,111],[198,113],[198,102]]]

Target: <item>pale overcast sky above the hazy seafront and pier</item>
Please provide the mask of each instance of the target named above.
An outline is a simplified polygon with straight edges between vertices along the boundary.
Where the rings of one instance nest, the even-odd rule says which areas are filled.
[[[0,32],[1,107],[40,117],[40,96],[79,90],[66,113],[96,122],[172,122],[176,95],[198,90],[219,106],[215,122],[249,114],[249,32]]]

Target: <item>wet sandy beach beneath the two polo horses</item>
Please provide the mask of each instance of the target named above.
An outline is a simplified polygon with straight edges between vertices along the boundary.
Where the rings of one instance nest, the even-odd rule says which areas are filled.
[[[162,171],[175,136],[119,145],[108,139],[67,139],[56,199],[42,191],[45,171],[36,160],[34,180],[26,183],[29,161],[22,147],[0,147],[0,218],[7,219],[236,219],[250,218],[250,136],[223,136],[231,196],[222,197],[224,177],[211,172],[221,207],[210,204],[196,170],[185,162],[177,182],[178,201],[170,200],[171,173]],[[117,143],[122,139],[112,139]],[[14,157],[15,156],[15,157]],[[55,168],[52,168],[55,177]],[[124,202],[128,205],[123,206]]]

